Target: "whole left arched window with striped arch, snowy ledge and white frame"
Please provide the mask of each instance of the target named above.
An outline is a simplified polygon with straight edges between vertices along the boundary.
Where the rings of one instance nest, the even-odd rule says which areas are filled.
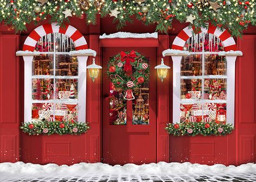
[[[25,40],[24,122],[86,121],[86,39],[73,26],[47,24]]]

